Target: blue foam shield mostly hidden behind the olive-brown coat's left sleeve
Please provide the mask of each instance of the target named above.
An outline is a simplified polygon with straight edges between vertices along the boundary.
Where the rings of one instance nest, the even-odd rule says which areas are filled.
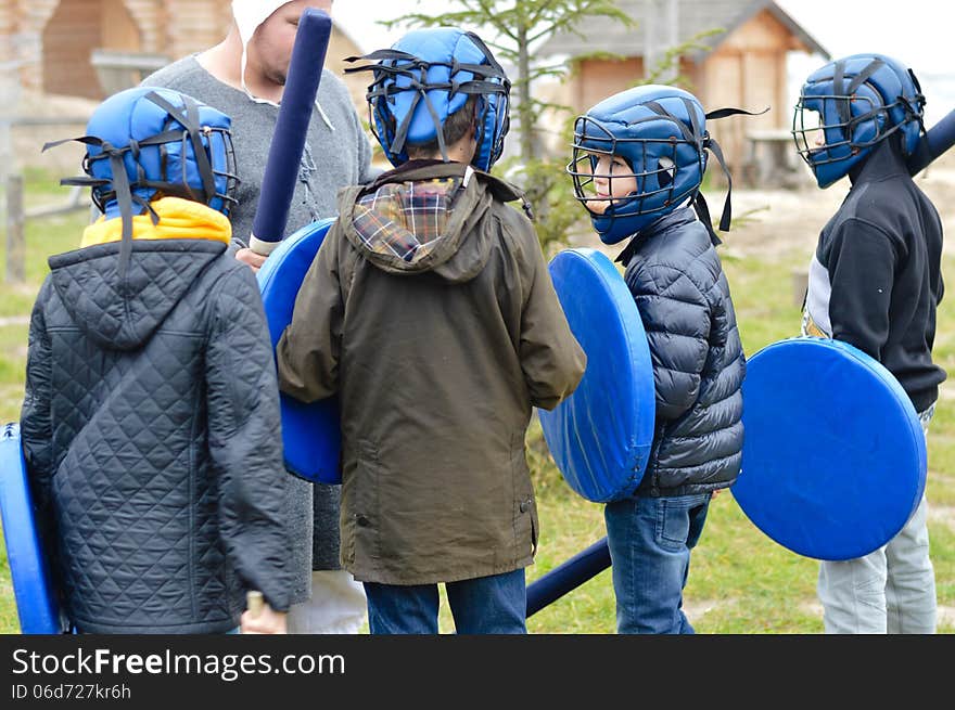
[[[273,350],[292,322],[298,288],[332,222],[333,219],[313,222],[289,235],[258,271],[258,287]],[[282,392],[280,400],[285,467],[313,482],[341,483],[338,398],[306,404]]]

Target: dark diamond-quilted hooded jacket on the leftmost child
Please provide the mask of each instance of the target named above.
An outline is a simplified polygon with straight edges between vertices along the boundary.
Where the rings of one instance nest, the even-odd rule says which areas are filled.
[[[63,602],[88,633],[219,633],[288,608],[278,387],[250,269],[208,240],[50,258],[24,453]]]

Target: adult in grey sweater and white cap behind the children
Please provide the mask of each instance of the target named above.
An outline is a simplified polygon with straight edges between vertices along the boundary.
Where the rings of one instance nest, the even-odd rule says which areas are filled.
[[[235,257],[254,270],[265,258],[247,248],[265,164],[282,99],[298,17],[331,0],[233,0],[232,26],[215,47],[181,59],[143,80],[176,89],[232,117],[241,184],[230,216]],[[344,82],[326,69],[308,127],[285,235],[333,217],[341,188],[373,177],[371,145]],[[294,477],[293,477],[294,478]],[[341,569],[338,486],[294,478],[286,514],[296,577],[290,633],[354,633],[366,618],[360,584]],[[309,558],[311,564],[309,565]]]

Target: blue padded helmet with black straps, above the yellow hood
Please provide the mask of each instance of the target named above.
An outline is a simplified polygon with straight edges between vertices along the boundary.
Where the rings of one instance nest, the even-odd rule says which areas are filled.
[[[88,177],[61,183],[90,186],[107,219],[147,211],[151,201],[164,196],[200,202],[228,216],[239,182],[230,128],[227,115],[187,94],[126,89],[97,107],[86,135],[69,139],[87,146]]]

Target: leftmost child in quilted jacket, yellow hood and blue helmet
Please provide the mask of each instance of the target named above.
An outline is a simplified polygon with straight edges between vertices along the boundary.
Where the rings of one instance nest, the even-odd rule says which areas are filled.
[[[289,606],[278,387],[252,272],[226,249],[228,116],[137,88],[90,117],[103,217],[50,257],[21,414],[46,551],[80,633],[225,633]]]

